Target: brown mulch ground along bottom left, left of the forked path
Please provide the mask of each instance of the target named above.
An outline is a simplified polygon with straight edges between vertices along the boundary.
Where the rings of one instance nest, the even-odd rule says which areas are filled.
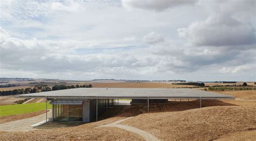
[[[72,128],[35,130],[30,132],[0,132],[2,140],[144,140],[136,133],[119,128],[94,128],[122,119],[115,117]]]

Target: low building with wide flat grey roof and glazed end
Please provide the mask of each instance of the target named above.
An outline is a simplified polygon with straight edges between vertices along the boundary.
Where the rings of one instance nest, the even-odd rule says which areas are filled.
[[[18,95],[46,98],[52,104],[53,121],[91,122],[119,99],[136,103],[166,102],[170,99],[234,99],[234,96],[190,88],[75,88]],[[201,104],[200,104],[201,107]]]

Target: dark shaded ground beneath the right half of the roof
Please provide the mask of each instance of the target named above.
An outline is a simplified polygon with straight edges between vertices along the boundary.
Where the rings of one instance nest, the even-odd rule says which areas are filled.
[[[202,100],[201,108],[213,106],[239,106],[232,103],[227,103],[220,100]],[[149,112],[171,112],[171,111],[184,111],[190,109],[200,108],[199,100],[179,100],[168,101],[166,103],[150,103]],[[104,112],[100,115],[100,119],[110,117],[132,117],[139,114],[147,113],[147,104],[136,105],[122,105],[114,106],[111,110]],[[99,119],[99,118],[98,118]]]

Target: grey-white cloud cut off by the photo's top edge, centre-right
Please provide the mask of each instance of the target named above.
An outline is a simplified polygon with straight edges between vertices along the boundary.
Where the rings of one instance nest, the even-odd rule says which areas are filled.
[[[192,5],[197,2],[197,0],[124,0],[122,5],[125,8],[139,8],[147,10],[162,11],[165,9],[173,8],[181,5]]]

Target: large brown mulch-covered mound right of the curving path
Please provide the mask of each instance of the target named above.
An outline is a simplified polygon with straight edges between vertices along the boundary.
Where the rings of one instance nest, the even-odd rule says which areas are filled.
[[[211,140],[231,132],[256,130],[256,108],[206,107],[141,114],[121,124],[167,140]]]

